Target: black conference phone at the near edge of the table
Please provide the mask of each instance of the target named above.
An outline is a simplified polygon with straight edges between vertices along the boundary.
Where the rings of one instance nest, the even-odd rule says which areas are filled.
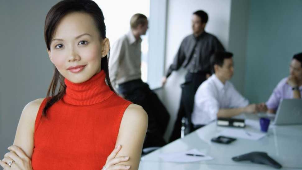
[[[280,169],[282,166],[268,156],[266,152],[250,152],[232,158],[233,161],[251,161],[253,163],[267,164]]]

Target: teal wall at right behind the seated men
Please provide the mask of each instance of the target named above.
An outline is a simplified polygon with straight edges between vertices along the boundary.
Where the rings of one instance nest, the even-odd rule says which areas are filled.
[[[302,1],[250,1],[245,97],[265,102],[302,52]]]

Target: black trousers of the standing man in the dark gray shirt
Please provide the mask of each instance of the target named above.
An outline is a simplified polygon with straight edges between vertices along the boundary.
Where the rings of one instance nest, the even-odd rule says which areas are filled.
[[[191,131],[194,129],[191,122],[191,114],[194,106],[194,96],[199,85],[206,80],[206,73],[187,73],[185,75],[185,83],[181,84],[181,100],[174,124],[174,129],[170,136],[169,142],[181,137],[181,119],[186,116],[189,120]]]

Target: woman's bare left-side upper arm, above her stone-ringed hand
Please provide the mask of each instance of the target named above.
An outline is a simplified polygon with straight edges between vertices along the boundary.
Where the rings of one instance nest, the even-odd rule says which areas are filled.
[[[24,107],[15,135],[14,145],[20,147],[29,158],[34,149],[34,122],[42,101],[37,99]]]

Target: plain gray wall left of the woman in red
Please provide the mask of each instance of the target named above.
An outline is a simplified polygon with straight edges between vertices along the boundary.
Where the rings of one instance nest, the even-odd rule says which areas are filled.
[[[44,20],[57,1],[1,1],[0,157],[13,144],[24,106],[46,96],[53,66],[43,37]]]

